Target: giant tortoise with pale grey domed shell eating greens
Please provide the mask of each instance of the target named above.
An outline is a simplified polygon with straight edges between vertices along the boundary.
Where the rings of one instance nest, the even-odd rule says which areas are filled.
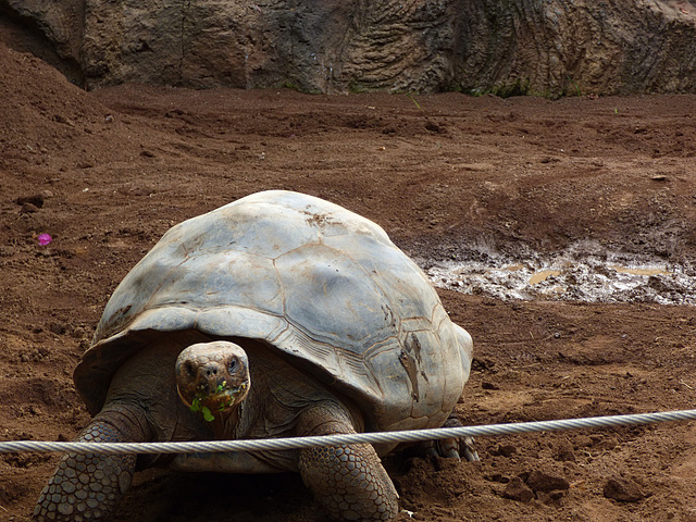
[[[117,286],[74,371],[94,415],[76,439],[461,425],[471,358],[471,336],[378,225],[308,195],[258,192],[173,226]],[[476,460],[462,442],[439,451]],[[34,519],[108,518],[137,464],[299,472],[333,519],[391,520],[398,494],[380,458],[394,447],[66,455]]]

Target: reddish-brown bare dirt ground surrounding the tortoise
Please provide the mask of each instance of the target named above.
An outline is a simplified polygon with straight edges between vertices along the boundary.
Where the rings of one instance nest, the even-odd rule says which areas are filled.
[[[695,275],[695,144],[694,96],[84,92],[0,46],[0,439],[87,423],[72,370],[117,283],[184,219],[284,188],[374,220],[425,264],[593,245]],[[474,338],[467,424],[694,407],[693,307],[439,291]],[[389,457],[399,520],[696,521],[694,422],[477,445],[476,463]],[[28,520],[58,458],[0,456],[0,520]],[[165,470],[115,515],[261,519],[324,520],[295,475]]]

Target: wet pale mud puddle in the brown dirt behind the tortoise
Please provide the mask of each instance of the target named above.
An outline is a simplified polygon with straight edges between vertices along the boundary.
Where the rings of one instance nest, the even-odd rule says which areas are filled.
[[[696,304],[696,265],[576,248],[552,257],[482,253],[431,262],[433,283],[496,299]]]

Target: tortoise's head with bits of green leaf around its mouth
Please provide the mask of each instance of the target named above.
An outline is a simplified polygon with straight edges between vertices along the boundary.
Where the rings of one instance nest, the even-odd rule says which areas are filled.
[[[239,405],[251,385],[247,353],[226,340],[189,346],[179,353],[175,371],[179,397],[207,421]]]

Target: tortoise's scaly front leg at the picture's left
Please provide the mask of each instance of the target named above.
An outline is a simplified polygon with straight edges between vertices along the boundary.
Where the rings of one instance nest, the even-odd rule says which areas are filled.
[[[145,442],[147,424],[138,411],[102,410],[75,439],[88,443]],[[65,455],[39,496],[33,520],[91,521],[108,517],[128,489],[135,455]]]

